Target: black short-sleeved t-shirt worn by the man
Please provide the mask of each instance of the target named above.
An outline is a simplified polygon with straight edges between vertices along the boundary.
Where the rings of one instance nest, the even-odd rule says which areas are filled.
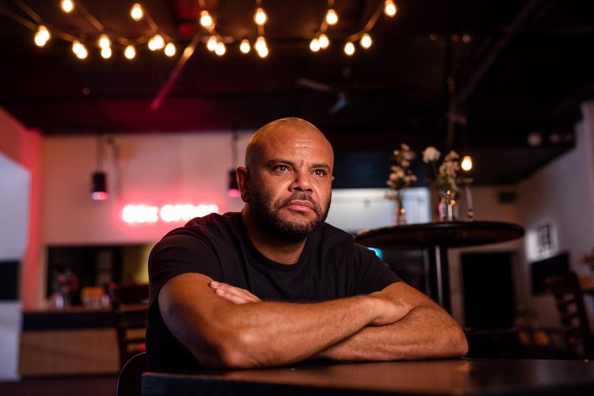
[[[150,306],[147,358],[151,371],[187,372],[201,367],[163,323],[157,295],[181,273],[203,273],[247,289],[261,300],[321,302],[384,289],[400,278],[373,251],[325,224],[307,237],[295,264],[265,258],[249,241],[241,213],[195,218],[167,233],[149,258]]]

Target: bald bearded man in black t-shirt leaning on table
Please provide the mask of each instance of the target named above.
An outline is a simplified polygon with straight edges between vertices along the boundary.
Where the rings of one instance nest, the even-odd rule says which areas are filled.
[[[333,165],[314,125],[272,121],[249,140],[236,171],[241,213],[196,218],[156,244],[151,371],[467,353],[451,316],[325,224]]]

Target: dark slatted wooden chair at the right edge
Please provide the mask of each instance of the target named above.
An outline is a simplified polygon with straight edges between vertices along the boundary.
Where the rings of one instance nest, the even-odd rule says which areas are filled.
[[[592,359],[592,335],[584,295],[575,272],[546,278],[549,293],[555,297],[559,311],[566,358]]]

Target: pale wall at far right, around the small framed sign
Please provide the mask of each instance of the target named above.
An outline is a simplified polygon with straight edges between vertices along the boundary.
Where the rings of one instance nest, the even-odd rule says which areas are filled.
[[[522,304],[535,310],[544,326],[559,323],[549,295],[531,295],[530,263],[569,252],[571,268],[578,275],[590,275],[580,258],[594,248],[594,103],[582,105],[583,121],[575,125],[575,149],[556,158],[518,185],[520,222],[526,228],[524,265],[518,271]],[[550,225],[552,245],[538,253],[533,239],[538,227]]]

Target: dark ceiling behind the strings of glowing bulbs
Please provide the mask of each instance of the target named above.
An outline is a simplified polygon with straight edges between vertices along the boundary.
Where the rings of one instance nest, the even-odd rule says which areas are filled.
[[[133,1],[75,1],[64,14],[59,0],[0,0],[0,106],[46,135],[254,129],[300,116],[327,134],[359,187],[385,183],[400,143],[469,152],[475,183],[489,185],[517,183],[573,147],[580,103],[594,96],[594,1],[395,2],[396,17],[373,24],[382,1],[331,1],[340,19],[326,28],[329,48],[314,53],[328,1],[261,1],[269,56],[260,59],[238,50],[258,36],[256,0],[145,0],[150,18],[139,22]],[[200,4],[224,56],[205,48]],[[33,43],[39,23],[52,32],[43,48]],[[356,42],[346,56],[342,45],[366,24],[373,45]],[[147,49],[152,28],[175,56]],[[94,44],[99,30],[112,37],[111,59]],[[88,59],[76,59],[74,39]],[[132,61],[126,40],[138,43]]]

